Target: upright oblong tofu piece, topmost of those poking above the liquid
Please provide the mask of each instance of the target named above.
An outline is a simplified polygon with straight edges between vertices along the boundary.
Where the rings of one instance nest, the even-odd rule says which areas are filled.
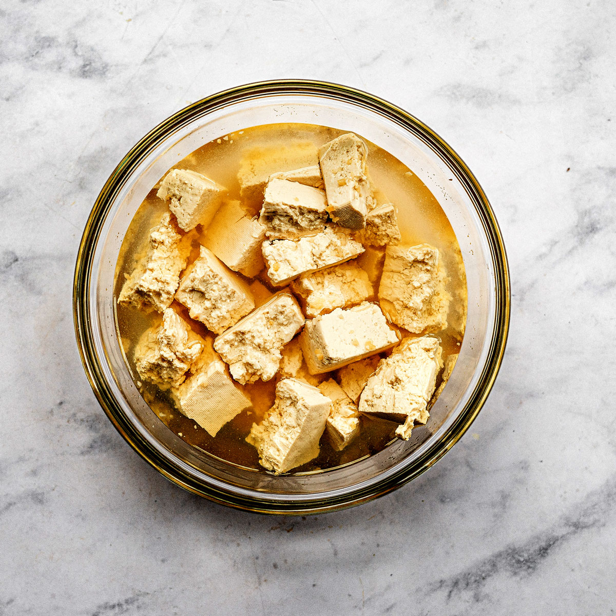
[[[341,227],[363,229],[373,208],[366,175],[368,148],[352,132],[341,135],[318,150],[331,219]]]

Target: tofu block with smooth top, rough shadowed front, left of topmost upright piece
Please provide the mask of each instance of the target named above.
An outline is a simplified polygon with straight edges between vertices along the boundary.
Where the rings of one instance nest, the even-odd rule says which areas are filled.
[[[265,187],[259,222],[270,240],[296,240],[325,229],[326,207],[323,190],[273,179]]]

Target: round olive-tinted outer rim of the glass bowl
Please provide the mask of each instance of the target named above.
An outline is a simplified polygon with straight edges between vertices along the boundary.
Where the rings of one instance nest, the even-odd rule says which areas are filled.
[[[116,192],[123,184],[124,179],[131,175],[132,170],[138,166],[139,162],[160,140],[168,136],[169,132],[190,123],[197,117],[203,117],[207,113],[231,103],[259,99],[269,95],[320,95],[354,103],[385,116],[388,120],[394,121],[426,141],[432,150],[456,173],[458,180],[464,185],[469,197],[471,197],[488,241],[495,277],[495,320],[488,356],[471,396],[448,431],[423,456],[400,469],[396,474],[387,477],[386,480],[381,482],[376,480],[368,487],[355,491],[351,490],[331,498],[321,498],[320,501],[266,500],[259,499],[258,492],[255,492],[254,496],[251,497],[223,492],[211,485],[204,485],[203,482],[190,476],[184,469],[172,464],[171,460],[164,458],[134,429],[132,423],[121,412],[115,397],[111,395],[107,387],[92,341],[92,323],[88,309],[92,256],[100,237],[99,233],[103,221],[105,221]],[[73,320],[81,362],[100,406],[121,436],[145,461],[180,487],[217,503],[257,513],[305,515],[359,505],[391,492],[391,490],[406,484],[411,479],[415,479],[419,474],[430,468],[468,430],[492,389],[505,353],[509,331],[510,305],[509,267],[500,227],[484,190],[460,156],[436,132],[397,105],[354,87],[312,79],[259,81],[217,92],[177,111],[142,137],[123,156],[95,200],[79,244],[73,281]]]

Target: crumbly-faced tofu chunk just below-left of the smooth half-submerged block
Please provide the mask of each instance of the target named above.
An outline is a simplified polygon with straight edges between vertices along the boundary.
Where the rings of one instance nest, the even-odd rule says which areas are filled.
[[[248,283],[233,274],[205,246],[185,271],[176,299],[190,311],[190,318],[222,334],[254,308]]]

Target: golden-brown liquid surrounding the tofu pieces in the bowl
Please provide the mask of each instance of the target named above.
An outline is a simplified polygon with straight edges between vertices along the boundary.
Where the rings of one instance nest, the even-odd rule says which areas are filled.
[[[171,169],[197,171],[226,187],[229,190],[230,199],[239,200],[240,185],[237,180],[237,172],[242,158],[252,148],[290,146],[298,141],[310,141],[319,147],[344,134],[344,132],[348,131],[339,131],[311,124],[256,126],[228,136],[221,136],[220,139],[203,145],[203,147],[180,160]],[[362,137],[361,135],[358,136]],[[447,355],[456,354],[460,350],[460,330],[464,330],[466,281],[455,233],[438,201],[419,177],[391,154],[371,144],[366,139],[364,141],[368,145],[367,169],[376,200],[379,205],[387,202],[394,203],[398,209],[398,224],[402,235],[400,245],[413,246],[428,243],[439,249],[440,258],[449,278],[448,291],[453,298],[450,304],[448,321],[458,324],[456,327],[450,325],[447,330],[439,331],[436,335],[440,339],[444,358]],[[156,197],[159,184],[160,182],[152,188],[140,205],[124,238],[116,265],[115,298],[120,294],[126,275],[134,269],[137,255],[144,248],[150,229],[157,223],[157,219],[160,219],[161,214],[168,211],[168,206]],[[261,203],[257,202],[245,202],[243,205],[253,214],[257,214],[261,208]],[[192,254],[189,262],[192,262],[198,256],[199,238],[202,232],[200,225],[197,229],[188,232],[192,240]],[[359,257],[359,264],[362,265],[362,257]],[[265,270],[262,270],[256,278],[249,282],[251,282],[256,307],[264,304],[276,291],[270,285]],[[378,291],[378,281],[375,284],[375,293],[376,291]],[[369,301],[376,301],[376,295]],[[196,333],[206,340],[214,339],[214,334],[209,332],[204,325],[188,317],[188,309],[182,304],[174,301],[171,306],[190,323]],[[157,386],[139,379],[133,360],[134,347],[147,328],[160,322],[161,315],[156,312],[145,314],[133,307],[117,306],[118,333],[126,362],[145,402],[150,405],[169,429],[193,447],[230,463],[256,469],[260,472],[267,472],[259,466],[256,448],[246,443],[245,439],[252,424],[261,421],[265,412],[274,404],[274,392],[278,379],[274,378],[266,383],[257,381],[257,383],[243,386],[244,391],[251,398],[253,408],[237,415],[218,432],[216,437],[211,437],[195,421],[177,411],[168,392],[161,391]],[[421,335],[409,334],[401,328],[398,329],[403,336],[415,337]],[[386,357],[386,355],[386,353],[383,353],[381,357]],[[335,373],[327,373],[323,376],[324,380],[334,378]],[[440,376],[437,380],[437,387],[439,384]],[[369,419],[366,416],[362,416],[360,422],[359,436],[344,450],[336,452],[324,434],[320,441],[318,457],[292,472],[310,472],[333,468],[376,453],[391,442],[398,426],[397,423],[391,421]]]

